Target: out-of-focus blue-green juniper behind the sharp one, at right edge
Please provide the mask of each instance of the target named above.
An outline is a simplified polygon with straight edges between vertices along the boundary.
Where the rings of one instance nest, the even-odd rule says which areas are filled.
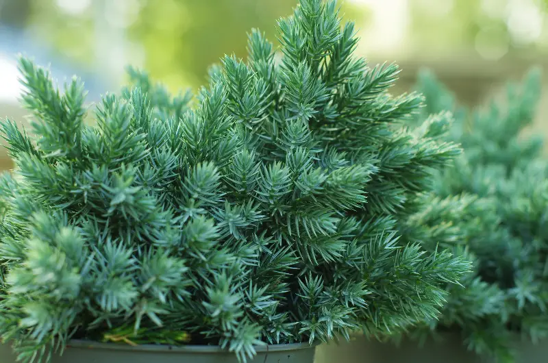
[[[455,112],[447,140],[464,152],[436,176],[426,197],[431,207],[408,223],[432,228],[442,218],[440,245],[461,249],[475,268],[462,286],[448,286],[440,319],[413,335],[458,329],[469,349],[513,362],[516,336],[548,337],[548,164],[542,138],[523,134],[534,118],[540,74],[532,70],[520,86],[508,85],[501,103],[474,112],[458,106],[430,73],[421,75],[418,89],[425,112]],[[451,210],[440,214],[449,203]]]

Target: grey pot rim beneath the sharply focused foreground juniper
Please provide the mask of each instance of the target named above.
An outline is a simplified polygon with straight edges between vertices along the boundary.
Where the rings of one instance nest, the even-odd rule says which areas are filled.
[[[257,345],[255,350],[257,353],[260,352],[271,352],[271,351],[297,351],[300,349],[314,348],[319,345],[319,342],[308,344],[308,342],[303,343],[293,343],[293,344],[273,344],[273,345]],[[164,353],[212,353],[212,354],[221,354],[228,353],[227,349],[222,349],[218,345],[125,345],[125,344],[114,344],[114,343],[104,343],[104,342],[92,342],[91,340],[69,340],[66,344],[66,349],[71,348],[84,348],[84,349],[104,349],[111,351],[161,351]]]

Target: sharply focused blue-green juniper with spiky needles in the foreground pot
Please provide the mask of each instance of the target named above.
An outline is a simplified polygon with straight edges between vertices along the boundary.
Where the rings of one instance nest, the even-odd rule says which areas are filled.
[[[195,103],[132,70],[92,125],[77,79],[60,92],[21,61],[36,136],[3,123],[0,333],[25,362],[69,338],[245,360],[438,314],[469,264],[399,225],[460,151],[449,115],[405,129],[423,98],[390,96],[397,67],[352,57],[334,1],[301,0],[279,38],[278,61],[252,32],[249,60],[223,58]]]

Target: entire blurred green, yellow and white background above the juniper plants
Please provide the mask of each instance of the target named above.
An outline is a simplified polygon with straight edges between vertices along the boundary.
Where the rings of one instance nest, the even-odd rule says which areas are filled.
[[[24,114],[16,105],[21,92],[17,53],[51,64],[60,81],[73,74],[82,76],[90,101],[118,89],[127,64],[146,68],[171,90],[196,90],[208,66],[222,55],[245,56],[246,32],[252,27],[277,42],[277,18],[290,14],[296,3],[0,0],[0,116],[22,119]],[[360,28],[359,55],[373,63],[395,61],[403,68],[397,91],[410,88],[419,68],[427,67],[462,102],[482,103],[530,66],[546,68],[548,0],[345,0],[340,4],[345,18]],[[535,127],[548,129],[542,116]]]

